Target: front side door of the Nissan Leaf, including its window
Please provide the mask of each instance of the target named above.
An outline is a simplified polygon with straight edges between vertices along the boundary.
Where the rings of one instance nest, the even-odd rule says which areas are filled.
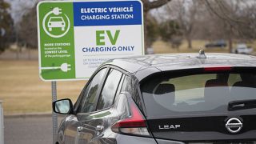
[[[81,126],[79,119],[82,119],[80,114],[90,114],[96,110],[98,93],[101,90],[100,87],[104,82],[107,70],[108,68],[102,68],[92,76],[74,106],[76,114],[70,114],[66,117],[65,143],[78,143],[78,138],[80,137],[78,133],[79,126]],[[87,137],[90,137],[90,135],[87,135]]]

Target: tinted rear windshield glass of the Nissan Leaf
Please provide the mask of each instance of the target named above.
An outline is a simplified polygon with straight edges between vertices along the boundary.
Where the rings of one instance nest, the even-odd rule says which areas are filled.
[[[256,74],[162,74],[141,90],[149,116],[227,113],[229,102],[256,99]]]

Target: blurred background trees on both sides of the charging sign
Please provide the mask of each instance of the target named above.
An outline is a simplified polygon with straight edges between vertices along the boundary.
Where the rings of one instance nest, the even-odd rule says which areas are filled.
[[[144,5],[145,48],[160,39],[178,48],[182,40],[193,48],[193,39],[223,39],[232,50],[234,39],[256,38],[254,0],[142,0]],[[36,5],[25,9],[14,26],[10,4],[0,0],[0,50],[10,42],[38,48]],[[6,39],[11,39],[7,41]]]

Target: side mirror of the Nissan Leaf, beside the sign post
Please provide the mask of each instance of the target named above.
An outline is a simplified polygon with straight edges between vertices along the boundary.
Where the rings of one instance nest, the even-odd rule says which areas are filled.
[[[73,112],[73,104],[70,99],[60,99],[53,102],[53,110],[58,114],[70,114]]]

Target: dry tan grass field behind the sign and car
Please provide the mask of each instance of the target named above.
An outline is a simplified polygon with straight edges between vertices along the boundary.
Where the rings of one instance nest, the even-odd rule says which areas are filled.
[[[186,48],[183,42],[179,50],[172,49],[165,42],[154,42],[155,54],[198,52],[205,45],[205,41],[193,41],[193,49]],[[256,41],[250,46],[256,48]],[[228,52],[226,49],[214,48],[207,52]],[[33,54],[38,54],[34,50]],[[78,98],[86,81],[57,82],[58,99],[71,98],[73,102]],[[25,114],[51,111],[51,83],[42,82],[38,76],[38,61],[0,60],[0,100],[3,101],[4,114]]]

